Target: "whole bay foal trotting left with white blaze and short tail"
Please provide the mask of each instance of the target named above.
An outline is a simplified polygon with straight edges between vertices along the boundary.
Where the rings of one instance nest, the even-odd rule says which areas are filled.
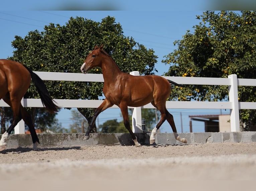
[[[177,134],[173,116],[166,109],[166,99],[171,93],[171,85],[184,87],[170,80],[166,80],[161,76],[132,76],[123,73],[111,56],[103,50],[103,44],[99,47],[95,46],[94,50],[87,56],[81,67],[82,73],[86,74],[94,67],[100,67],[104,78],[103,93],[105,99],[103,103],[95,109],[92,121],[90,122],[85,139],[89,139],[89,134],[93,129],[93,125],[97,116],[105,109],[114,104],[120,107],[124,125],[132,136],[135,146],[140,147],[141,144],[137,141],[137,137],[130,128],[128,118],[128,106],[140,107],[151,102],[161,113],[161,119],[152,130],[150,135],[150,144],[155,142],[155,135],[159,127],[167,119],[169,122],[174,137],[183,143],[187,143],[185,138],[180,138]]]

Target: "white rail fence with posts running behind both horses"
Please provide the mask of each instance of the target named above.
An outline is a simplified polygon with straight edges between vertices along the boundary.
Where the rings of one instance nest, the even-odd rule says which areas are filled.
[[[102,74],[78,74],[78,73],[56,73],[56,72],[35,72],[42,80],[54,81],[79,81],[79,82],[104,82]],[[131,75],[139,75],[139,72],[131,72]],[[166,107],[172,109],[230,109],[231,131],[240,131],[239,109],[256,109],[256,102],[239,102],[238,86],[256,86],[256,79],[238,79],[236,75],[228,78],[197,78],[197,77],[164,77],[178,84],[194,85],[225,85],[229,86],[229,101],[167,101]],[[54,99],[60,107],[88,107],[97,108],[103,100],[74,100],[74,99]],[[43,107],[40,99],[22,99],[24,107]],[[0,100],[0,106],[8,106]],[[111,108],[118,108],[113,105]],[[133,108],[133,107],[129,107]],[[141,108],[154,108],[149,103],[142,107],[133,108],[132,127],[133,132],[141,130]],[[21,120],[14,128],[15,134],[25,133],[24,121]]]

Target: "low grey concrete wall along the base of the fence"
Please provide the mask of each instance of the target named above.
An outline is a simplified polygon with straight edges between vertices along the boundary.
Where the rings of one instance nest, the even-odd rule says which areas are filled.
[[[150,133],[135,133],[139,143],[149,145]],[[134,145],[129,133],[91,133],[84,140],[83,133],[38,134],[39,147],[68,147],[76,145]],[[188,144],[224,143],[224,142],[256,142],[256,132],[205,132],[179,133],[186,138]],[[181,144],[173,133],[157,133],[156,144]],[[33,147],[30,134],[11,134],[7,139],[7,148]]]

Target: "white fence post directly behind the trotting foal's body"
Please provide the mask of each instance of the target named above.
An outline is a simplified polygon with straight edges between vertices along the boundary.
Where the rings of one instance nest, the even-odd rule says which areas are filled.
[[[130,72],[130,75],[139,76],[140,73],[138,71],[133,71]],[[132,131],[134,133],[142,132],[142,129],[139,124],[141,124],[141,107],[134,107],[132,109]]]

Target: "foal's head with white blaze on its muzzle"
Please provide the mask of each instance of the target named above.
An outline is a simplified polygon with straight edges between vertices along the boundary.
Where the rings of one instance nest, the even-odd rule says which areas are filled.
[[[96,45],[94,50],[87,56],[84,64],[81,66],[82,73],[86,74],[94,67],[101,67],[101,52],[103,52],[103,44],[100,47]]]

